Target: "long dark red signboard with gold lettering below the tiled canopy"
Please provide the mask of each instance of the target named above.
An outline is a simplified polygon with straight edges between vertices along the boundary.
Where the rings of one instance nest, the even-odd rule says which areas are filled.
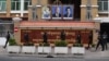
[[[29,41],[40,42],[40,41],[43,41],[44,32],[47,33],[48,41],[55,42],[56,40],[60,40],[60,35],[61,35],[62,29],[22,29],[21,30],[21,40],[25,41],[24,35],[25,35],[25,33],[27,33],[28,37],[29,37]],[[64,32],[65,32],[65,40],[66,41],[76,40],[78,30],[64,29]],[[88,42],[88,34],[89,34],[89,30],[81,30],[81,36],[82,36],[81,39],[82,39],[83,44]]]

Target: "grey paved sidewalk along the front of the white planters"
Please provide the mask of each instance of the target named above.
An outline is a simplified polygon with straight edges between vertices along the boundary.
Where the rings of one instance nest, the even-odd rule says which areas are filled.
[[[25,53],[8,53],[7,49],[3,49],[0,46],[0,56],[10,56],[10,57],[47,57],[47,54],[25,54]],[[86,50],[84,56],[74,56],[74,54],[53,54],[56,58],[85,58],[85,59],[96,59],[96,58],[109,58],[109,50],[97,51]]]

